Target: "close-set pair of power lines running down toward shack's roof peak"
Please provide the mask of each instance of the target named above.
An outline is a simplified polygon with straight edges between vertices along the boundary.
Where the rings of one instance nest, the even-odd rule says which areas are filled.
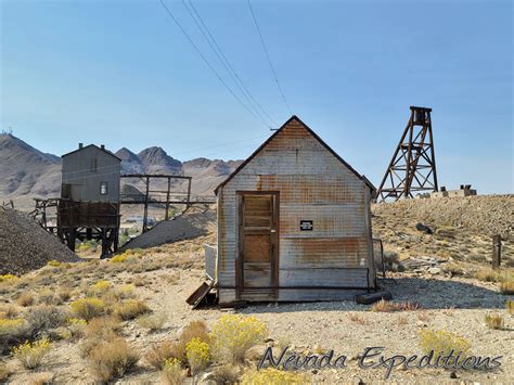
[[[234,69],[234,67],[232,66],[232,64],[230,63],[230,61],[227,59],[227,55],[223,53],[223,50],[219,47],[218,42],[216,41],[216,38],[213,36],[213,34],[210,33],[209,28],[207,27],[207,25],[205,24],[204,20],[202,18],[202,16],[200,15],[198,11],[196,10],[196,8],[194,7],[193,2],[191,0],[189,0],[189,4],[191,5],[191,9],[193,10],[194,12],[194,15],[196,15],[196,17],[198,18],[200,23],[202,24],[203,28],[205,29],[205,31],[207,33],[208,37],[206,36],[206,34],[204,33],[203,28],[198,25],[198,22],[196,21],[196,18],[194,17],[194,15],[192,14],[192,12],[190,11],[190,9],[188,8],[187,3],[185,3],[185,0],[182,0],[182,3],[184,4],[185,9],[188,10],[189,14],[191,15],[191,17],[194,20],[194,22],[196,23],[196,26],[198,27],[198,29],[202,31],[202,35],[204,36],[204,38],[207,40],[207,42],[209,43],[210,48],[213,49],[213,51],[216,53],[216,55],[218,56],[219,61],[221,62],[221,64],[223,65],[224,69],[227,69],[227,72],[229,73],[229,75],[231,76],[232,80],[235,82],[235,85],[237,86],[237,88],[240,89],[240,91],[243,93],[243,95],[245,97],[246,101],[253,105],[255,107],[255,111],[257,113],[259,113],[259,110],[260,112],[274,125],[274,126],[278,126],[277,121],[273,120],[273,118],[262,108],[262,106],[259,104],[259,102],[257,102],[257,100],[254,98],[254,95],[252,94],[252,92],[249,92],[248,88],[245,86],[245,84],[243,82],[243,80],[241,80],[241,77],[239,76],[237,72]],[[214,46],[213,46],[214,44]],[[260,113],[259,113],[260,115]]]

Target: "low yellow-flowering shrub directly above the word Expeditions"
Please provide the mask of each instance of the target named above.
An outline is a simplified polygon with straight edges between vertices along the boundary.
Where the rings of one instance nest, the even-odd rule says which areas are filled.
[[[425,354],[434,350],[434,357],[462,351],[463,357],[470,354],[470,343],[463,336],[446,330],[420,330],[420,345]]]

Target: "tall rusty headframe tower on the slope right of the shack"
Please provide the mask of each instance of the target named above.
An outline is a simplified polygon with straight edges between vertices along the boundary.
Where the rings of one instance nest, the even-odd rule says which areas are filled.
[[[432,108],[411,106],[411,116],[376,192],[377,201],[438,191]],[[387,187],[386,187],[387,185]]]

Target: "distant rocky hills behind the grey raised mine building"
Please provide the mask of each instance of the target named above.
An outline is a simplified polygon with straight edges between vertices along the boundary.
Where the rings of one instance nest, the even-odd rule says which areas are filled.
[[[180,162],[158,146],[145,149],[139,154],[121,147],[116,156],[121,159],[123,174],[175,174],[193,177],[193,195],[211,195],[214,189],[242,163],[203,157]],[[139,180],[121,181],[123,184],[142,188]],[[174,188],[181,189],[182,185],[183,182],[176,181]],[[60,190],[60,156],[43,153],[10,133],[0,134],[0,204],[2,201],[13,200],[22,208],[30,208],[34,206],[33,198],[59,196]]]

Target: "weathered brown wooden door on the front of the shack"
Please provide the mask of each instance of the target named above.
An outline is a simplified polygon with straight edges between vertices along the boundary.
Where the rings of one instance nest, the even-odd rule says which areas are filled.
[[[242,299],[270,299],[274,296],[278,267],[278,194],[274,193],[241,195]]]

